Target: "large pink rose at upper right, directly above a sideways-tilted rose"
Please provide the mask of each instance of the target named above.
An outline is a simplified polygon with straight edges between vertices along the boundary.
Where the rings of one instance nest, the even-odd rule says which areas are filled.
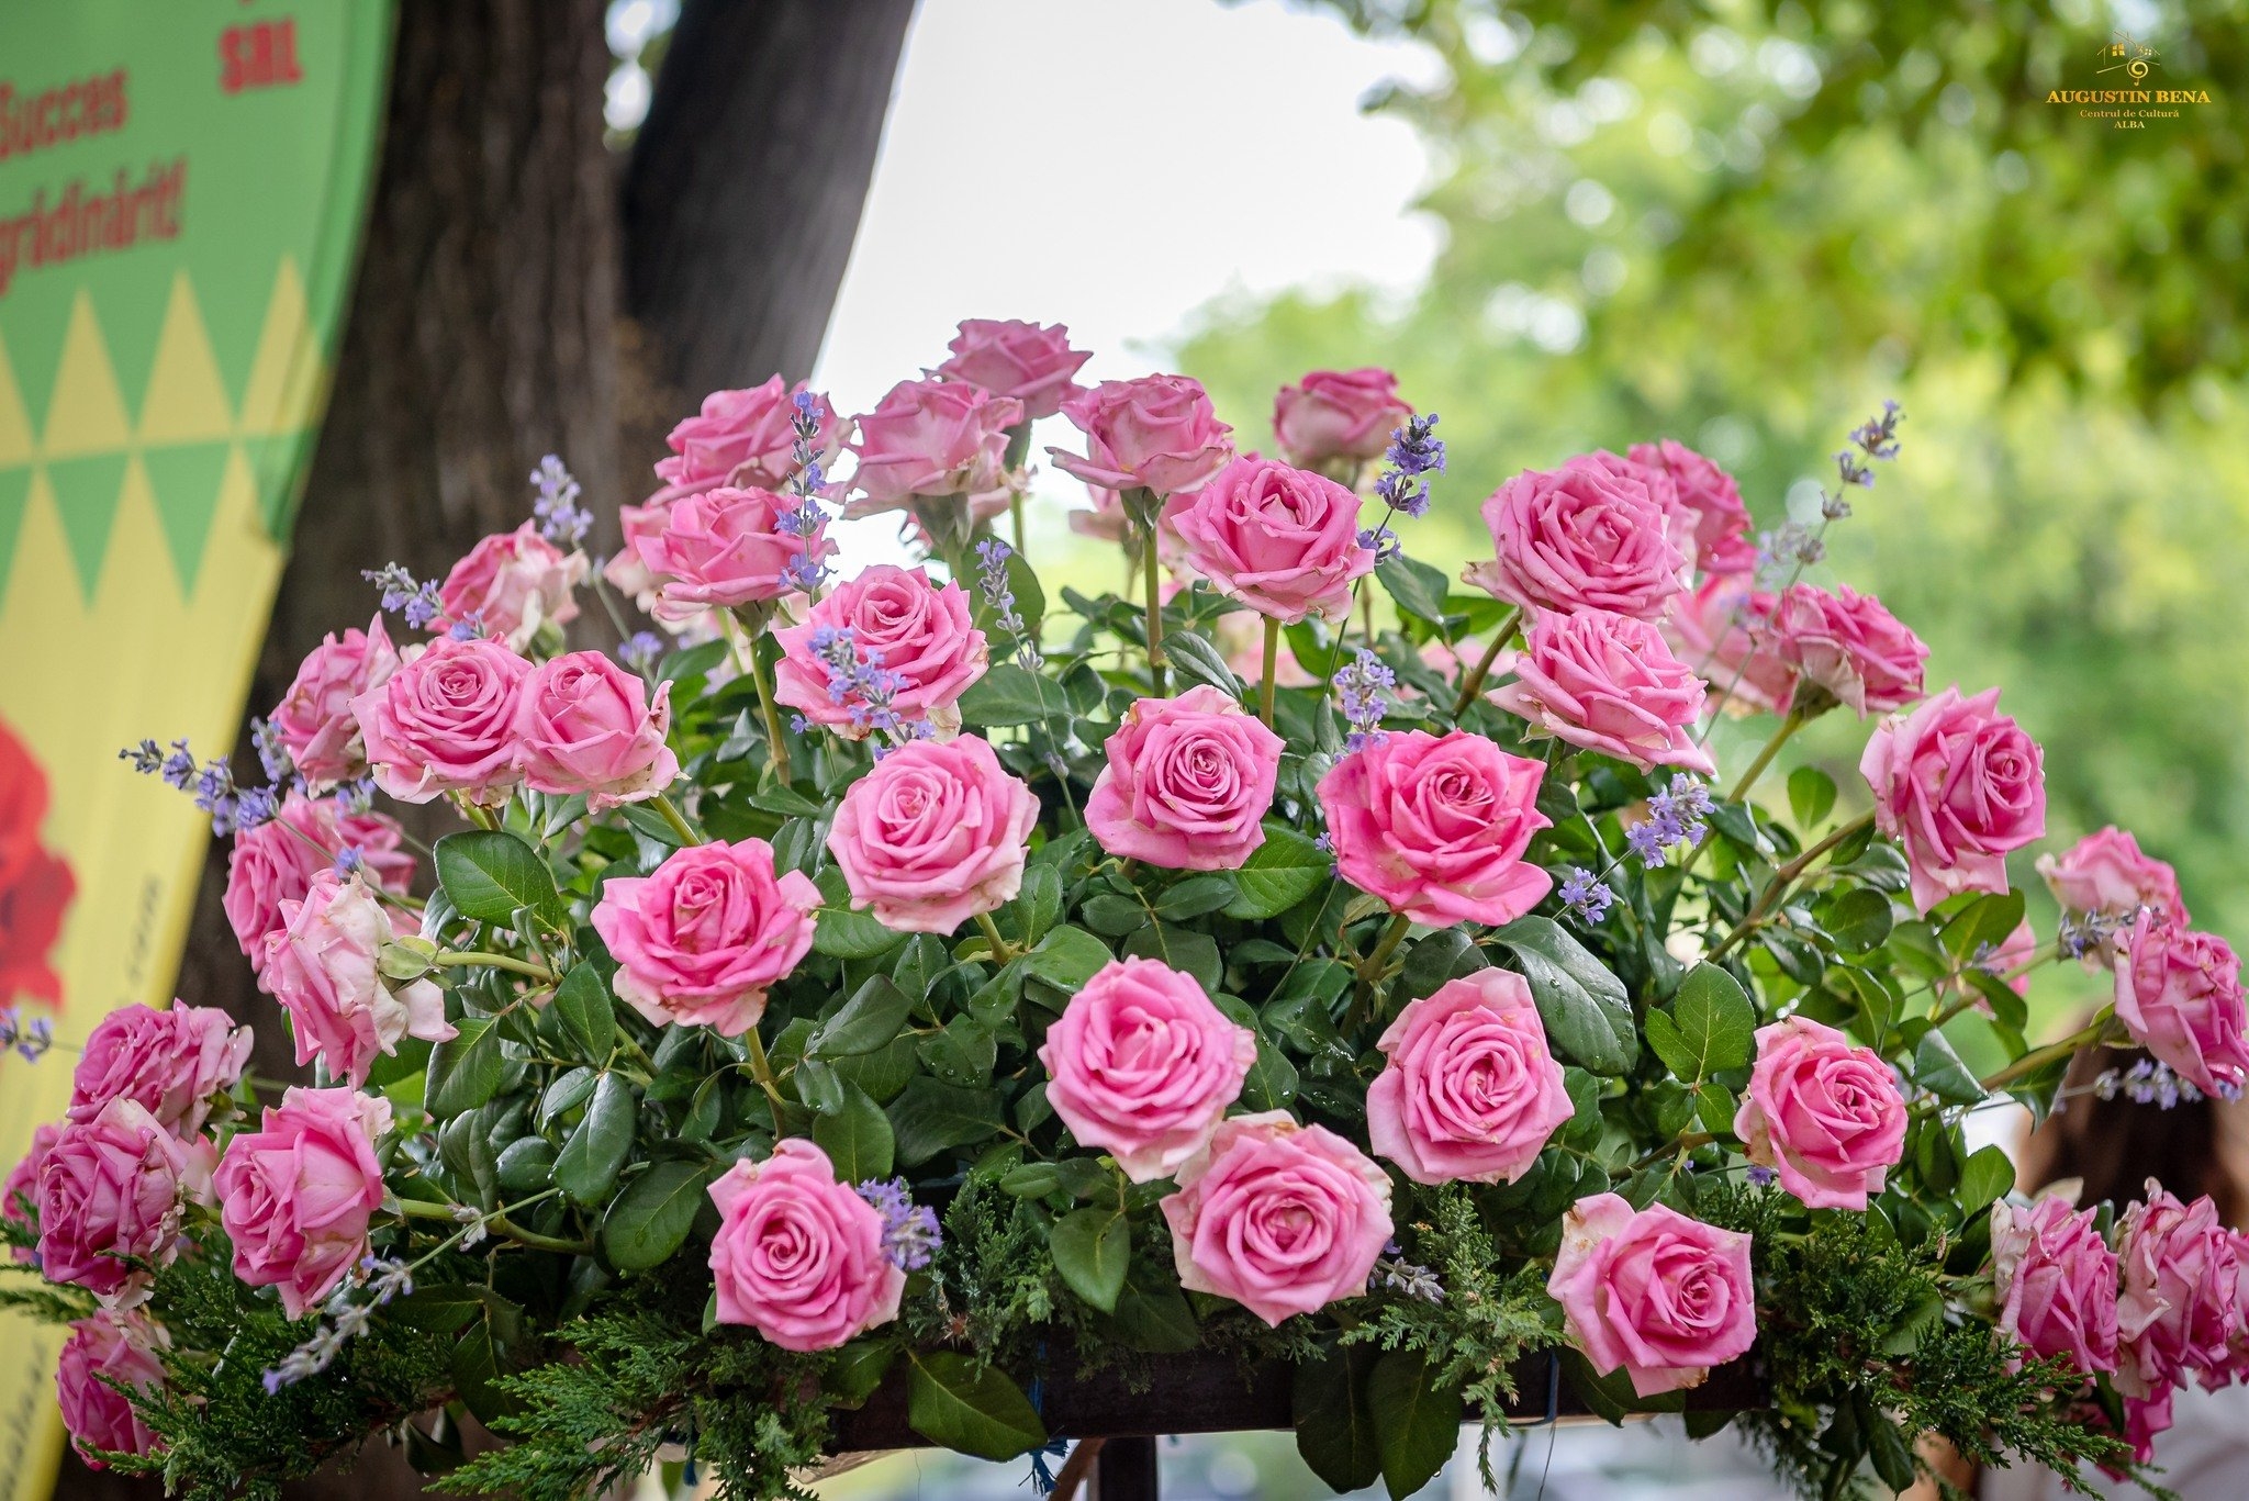
[[[1525,610],[1615,610],[1653,621],[1687,587],[1687,556],[1649,486],[1646,470],[1599,455],[1525,470],[1484,502],[1498,556],[1469,565],[1462,578]]]

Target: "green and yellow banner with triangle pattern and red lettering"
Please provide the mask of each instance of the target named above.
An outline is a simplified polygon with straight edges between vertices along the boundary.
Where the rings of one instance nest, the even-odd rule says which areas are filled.
[[[117,758],[234,745],[328,392],[389,0],[0,5],[0,1172],[88,1028],[164,1004],[209,819]],[[0,1316],[0,1501],[61,1332]]]

